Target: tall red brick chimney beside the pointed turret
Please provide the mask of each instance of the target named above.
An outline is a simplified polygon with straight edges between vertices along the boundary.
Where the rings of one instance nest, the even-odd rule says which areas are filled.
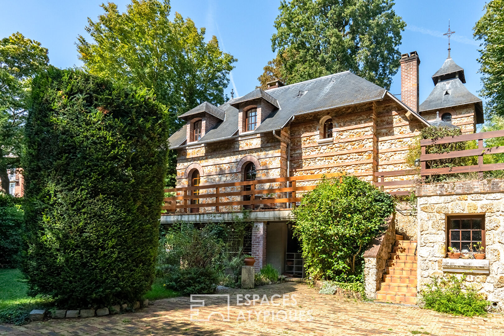
[[[418,112],[418,65],[416,51],[401,55],[401,101]]]

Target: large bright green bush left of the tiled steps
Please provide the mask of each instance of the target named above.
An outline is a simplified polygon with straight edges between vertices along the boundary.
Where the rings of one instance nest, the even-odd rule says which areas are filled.
[[[292,210],[306,272],[313,279],[362,281],[365,247],[393,211],[392,196],[368,182],[323,178]]]

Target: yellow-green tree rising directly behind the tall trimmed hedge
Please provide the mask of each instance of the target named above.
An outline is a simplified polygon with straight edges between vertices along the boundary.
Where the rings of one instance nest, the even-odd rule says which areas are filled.
[[[203,101],[225,102],[236,58],[220,50],[215,36],[205,42],[205,28],[178,13],[170,21],[168,0],[132,0],[122,14],[114,3],[101,7],[97,21],[88,18],[93,42],[79,35],[77,43],[91,74],[154,90],[170,112],[170,133],[181,126],[177,115]]]

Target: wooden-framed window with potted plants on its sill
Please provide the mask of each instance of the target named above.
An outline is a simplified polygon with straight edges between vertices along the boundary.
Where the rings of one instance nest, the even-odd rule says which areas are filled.
[[[485,216],[449,216],[447,242],[447,247],[454,247],[464,252],[470,251],[470,245],[475,251],[474,247],[478,245],[478,242],[485,247]]]

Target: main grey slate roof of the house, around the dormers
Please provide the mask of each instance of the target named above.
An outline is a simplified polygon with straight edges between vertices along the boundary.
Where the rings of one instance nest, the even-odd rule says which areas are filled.
[[[270,98],[268,98],[268,96],[270,96],[274,101],[276,100],[280,107],[279,109],[273,110],[259,127],[253,132],[250,132],[250,134],[254,134],[280,129],[289,122],[293,115],[377,101],[383,99],[387,94],[387,90],[384,88],[352,74],[350,71],[273,88],[267,91],[268,92],[256,89],[245,96],[236,97],[220,105],[219,109],[226,112],[225,120],[206,131],[205,135],[198,143],[226,139],[236,135],[238,130],[238,110],[233,107],[233,105],[245,100],[262,97],[270,101]],[[392,95],[391,97],[393,99],[395,98]],[[409,109],[401,101],[395,100],[399,104],[402,104],[404,108]],[[424,124],[428,124],[428,122],[417,113],[411,109],[409,110]],[[170,137],[170,148],[180,146],[185,140],[185,127],[182,128],[184,129],[175,132]]]

